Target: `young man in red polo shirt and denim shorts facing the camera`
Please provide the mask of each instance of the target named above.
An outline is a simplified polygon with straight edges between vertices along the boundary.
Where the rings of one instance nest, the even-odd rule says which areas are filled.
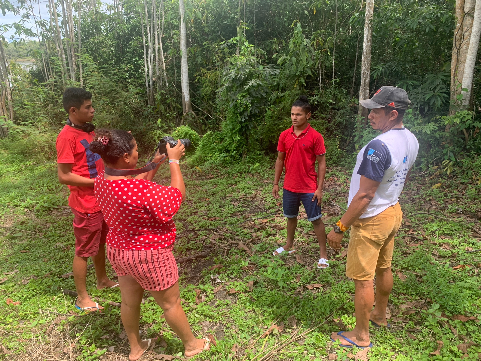
[[[326,176],[326,148],[324,138],[307,120],[311,117],[311,105],[306,96],[300,96],[291,107],[292,127],[280,133],[277,146],[276,175],[272,194],[279,198],[279,179],[284,166],[282,207],[287,217],[287,242],[273,253],[274,256],[293,249],[299,206],[304,205],[307,220],[312,222],[319,242],[317,268],[328,268],[326,253],[326,229],[321,220],[322,187]],[[316,173],[316,160],[318,163]],[[319,177],[317,179],[317,174]]]

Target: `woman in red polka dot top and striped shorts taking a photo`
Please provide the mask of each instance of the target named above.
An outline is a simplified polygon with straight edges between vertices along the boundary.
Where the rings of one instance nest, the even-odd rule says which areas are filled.
[[[99,154],[105,166],[135,169],[139,155],[134,137],[124,130],[99,130],[98,140],[89,149]],[[140,340],[140,303],[144,290],[151,292],[164,310],[165,321],[180,337],[185,357],[209,349],[209,339],[197,339],[190,331],[180,305],[177,263],[172,254],[176,226],[172,217],[185,197],[185,185],[178,160],[184,145],[166,145],[171,173],[170,187],[152,181],[165,156],[153,170],[133,176],[100,173],[95,179],[94,193],[109,226],[107,257],[118,275],[122,306],[122,322],[130,342],[129,360],[138,360],[155,340]],[[107,170],[107,173],[109,171]],[[122,171],[117,171],[122,173]],[[126,172],[124,172],[126,173]]]

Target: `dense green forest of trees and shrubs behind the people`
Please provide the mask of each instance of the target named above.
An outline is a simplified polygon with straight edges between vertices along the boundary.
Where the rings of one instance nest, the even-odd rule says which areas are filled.
[[[475,1],[471,8],[469,1],[462,3],[472,25]],[[468,181],[479,181],[479,56],[466,106],[455,107],[462,96],[460,86],[453,90],[461,1],[376,0],[366,23],[373,2],[2,1],[4,12],[23,14],[2,26],[15,30],[2,43],[2,84],[11,88],[10,102],[8,89],[2,92],[4,143],[53,154],[51,137],[66,118],[62,91],[82,86],[94,94],[97,127],[132,130],[146,153],[175,132],[194,138],[196,164],[253,160],[275,152],[279,133],[290,126],[291,103],[307,94],[328,161],[339,164],[374,134],[358,112],[369,23],[368,91],[407,90],[412,106],[405,124],[420,141],[418,166],[468,170]],[[42,17],[45,7],[50,18]],[[36,63],[26,71],[15,57]]]

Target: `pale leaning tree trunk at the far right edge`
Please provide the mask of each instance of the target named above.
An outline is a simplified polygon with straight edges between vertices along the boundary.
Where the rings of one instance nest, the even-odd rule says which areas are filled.
[[[466,63],[463,72],[463,107],[468,108],[471,100],[471,88],[473,85],[474,64],[476,64],[476,56],[478,55],[478,48],[480,43],[481,33],[481,0],[476,0],[476,7],[474,9],[473,26],[471,30],[471,37],[469,39],[468,53],[466,54]]]

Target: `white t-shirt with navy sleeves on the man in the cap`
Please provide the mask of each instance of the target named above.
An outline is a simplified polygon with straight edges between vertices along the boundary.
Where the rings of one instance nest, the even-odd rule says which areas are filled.
[[[376,216],[397,203],[418,149],[418,140],[405,128],[380,134],[361,149],[356,158],[347,205],[359,191],[361,176],[378,181],[380,185],[366,212],[359,218]]]

